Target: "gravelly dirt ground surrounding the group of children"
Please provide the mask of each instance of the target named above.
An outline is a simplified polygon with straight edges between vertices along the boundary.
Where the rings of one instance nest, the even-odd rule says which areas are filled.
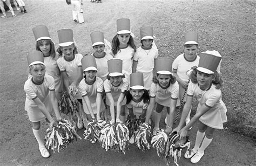
[[[96,4],[84,0],[83,24],[72,21],[70,6],[64,0],[24,1],[28,13],[15,18],[7,13],[8,18],[0,19],[0,165],[165,165],[154,149],[143,153],[130,145],[123,155],[85,140],[70,144],[60,153],[50,151],[47,159],[40,155],[24,110],[23,91],[28,76],[26,54],[35,50],[32,27],[37,25],[48,26],[56,47],[57,30],[73,29],[79,52],[89,54],[92,53],[90,32],[102,31],[111,41],[116,33],[116,20],[130,18],[137,46],[139,27],[152,25],[159,56],[172,58],[183,52],[185,32],[196,30],[200,51],[217,50],[223,56],[221,72],[226,80],[223,100],[228,112],[254,110],[254,1],[102,1]],[[164,127],[163,119],[161,126]],[[43,131],[46,128],[44,122]],[[82,136],[83,131],[78,134]],[[196,132],[197,124],[189,133],[192,144]],[[178,163],[192,165],[183,156]],[[197,165],[256,165],[255,143],[227,127],[217,130]]]

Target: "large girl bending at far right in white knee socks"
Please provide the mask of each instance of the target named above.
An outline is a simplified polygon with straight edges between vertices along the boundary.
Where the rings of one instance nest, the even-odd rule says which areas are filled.
[[[221,57],[213,54],[200,54],[199,65],[191,73],[191,82],[187,88],[187,100],[181,114],[179,125],[173,132],[179,132],[180,139],[187,136],[187,130],[199,120],[199,128],[194,148],[185,153],[185,158],[191,158],[192,163],[200,161],[204,150],[211,143],[215,129],[223,129],[223,123],[227,121],[226,106],[221,100],[220,88],[223,80],[216,71]],[[193,96],[198,103],[197,113],[191,121],[182,128],[185,118],[190,111]],[[201,144],[201,146],[200,146]]]

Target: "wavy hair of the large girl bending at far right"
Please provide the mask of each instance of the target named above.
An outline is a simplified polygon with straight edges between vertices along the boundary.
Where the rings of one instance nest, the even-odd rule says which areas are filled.
[[[190,75],[190,79],[191,82],[193,82],[194,84],[197,84],[197,73],[203,73],[197,70],[197,68],[194,68],[194,70],[192,71],[191,75]],[[221,78],[220,74],[216,71],[214,74],[209,74],[209,75],[213,75],[213,80],[212,80],[212,84],[214,84],[216,86],[216,89],[220,89],[221,87],[223,87],[224,85],[224,80]]]

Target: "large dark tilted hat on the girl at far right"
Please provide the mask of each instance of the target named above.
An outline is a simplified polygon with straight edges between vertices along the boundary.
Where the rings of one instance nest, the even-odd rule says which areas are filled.
[[[204,52],[201,52],[199,56],[200,59],[197,70],[207,74],[214,74],[215,71],[217,71],[221,57]]]

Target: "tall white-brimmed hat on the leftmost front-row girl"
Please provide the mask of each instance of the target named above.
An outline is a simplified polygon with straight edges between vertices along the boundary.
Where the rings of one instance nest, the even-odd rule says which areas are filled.
[[[42,64],[44,65],[44,54],[41,51],[32,51],[26,56],[26,59],[28,59],[28,65],[36,65],[36,64]]]

